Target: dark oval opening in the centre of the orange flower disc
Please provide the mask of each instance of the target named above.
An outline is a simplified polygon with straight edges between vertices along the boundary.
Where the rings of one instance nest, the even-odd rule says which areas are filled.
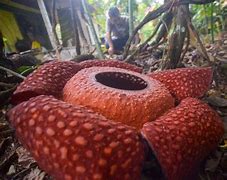
[[[116,89],[142,90],[147,82],[132,74],[122,72],[102,72],[95,75],[97,82]]]

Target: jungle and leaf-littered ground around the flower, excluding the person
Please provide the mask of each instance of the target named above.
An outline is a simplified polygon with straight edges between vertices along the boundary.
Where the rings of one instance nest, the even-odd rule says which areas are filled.
[[[129,18],[124,51],[105,47],[107,10]],[[133,44],[138,34],[140,42]],[[19,144],[5,118],[17,85],[52,60],[119,59],[144,72],[212,66],[204,101],[227,132],[226,0],[0,0],[0,179],[51,179]],[[227,134],[203,163],[200,180],[227,179]]]

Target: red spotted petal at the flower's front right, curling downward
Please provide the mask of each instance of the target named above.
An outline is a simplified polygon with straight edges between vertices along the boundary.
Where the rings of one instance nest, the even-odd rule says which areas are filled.
[[[223,133],[218,114],[194,98],[184,99],[142,129],[168,180],[190,179],[201,160],[217,147]]]

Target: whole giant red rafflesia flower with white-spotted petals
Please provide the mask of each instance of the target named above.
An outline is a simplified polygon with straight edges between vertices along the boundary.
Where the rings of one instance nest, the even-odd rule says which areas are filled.
[[[167,179],[188,178],[224,131],[197,99],[212,70],[141,72],[116,60],[47,63],[18,86],[9,120],[55,179],[141,179],[147,144]]]

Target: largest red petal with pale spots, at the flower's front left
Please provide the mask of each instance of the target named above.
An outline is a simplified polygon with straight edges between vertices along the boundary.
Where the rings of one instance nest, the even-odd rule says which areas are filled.
[[[44,95],[8,116],[19,140],[56,180],[140,179],[144,152],[134,128]]]

